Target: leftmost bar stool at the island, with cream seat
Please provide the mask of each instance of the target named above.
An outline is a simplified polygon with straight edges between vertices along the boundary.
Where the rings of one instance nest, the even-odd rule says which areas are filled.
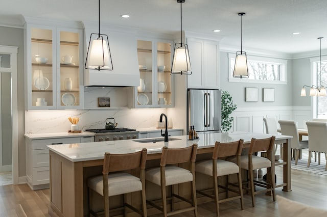
[[[109,217],[109,197],[124,194],[124,216],[126,216],[126,207],[132,209],[142,216],[147,216],[146,198],[145,198],[145,165],[147,158],[147,149],[127,154],[110,154],[104,155],[103,170],[100,176],[90,177],[87,180],[89,191],[94,191],[104,199],[104,213]],[[126,170],[139,169],[139,178]],[[142,192],[142,211],[126,203],[125,196],[127,193]],[[90,194],[89,194],[90,196]],[[89,201],[90,198],[89,198]],[[90,205],[90,204],[89,204]],[[90,209],[89,209],[90,210]],[[92,215],[98,214],[93,210],[89,211]]]

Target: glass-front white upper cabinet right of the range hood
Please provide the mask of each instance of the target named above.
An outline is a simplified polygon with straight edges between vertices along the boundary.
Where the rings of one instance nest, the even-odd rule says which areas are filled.
[[[174,77],[170,73],[172,41],[138,40],[140,81],[128,92],[128,107],[173,107]]]

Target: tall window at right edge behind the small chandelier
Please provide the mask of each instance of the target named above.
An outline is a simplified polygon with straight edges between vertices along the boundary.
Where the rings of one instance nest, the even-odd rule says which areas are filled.
[[[319,59],[315,61],[316,58],[312,58],[312,70],[313,70],[313,80],[315,81],[314,84],[319,85]],[[325,88],[327,87],[327,60],[321,61],[321,85],[323,85]],[[326,119],[327,118],[327,97],[317,97],[316,100],[314,100],[316,103],[316,108],[313,110],[317,113],[317,115],[314,114],[313,117]]]

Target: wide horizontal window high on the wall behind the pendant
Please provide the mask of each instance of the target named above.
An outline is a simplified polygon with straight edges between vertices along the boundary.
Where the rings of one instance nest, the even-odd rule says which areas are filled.
[[[228,53],[229,82],[286,84],[287,60],[247,56],[249,78],[233,78],[235,53]]]

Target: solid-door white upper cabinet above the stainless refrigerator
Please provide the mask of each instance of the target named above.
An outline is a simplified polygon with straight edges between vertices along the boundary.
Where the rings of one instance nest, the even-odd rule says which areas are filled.
[[[219,89],[219,43],[187,38],[192,74],[187,76],[188,88]]]

